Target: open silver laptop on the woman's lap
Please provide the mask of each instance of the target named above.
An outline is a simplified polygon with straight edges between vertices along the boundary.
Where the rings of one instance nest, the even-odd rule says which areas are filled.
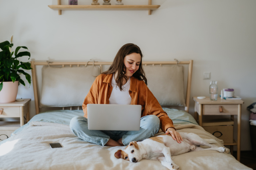
[[[89,130],[140,130],[141,105],[87,104]]]

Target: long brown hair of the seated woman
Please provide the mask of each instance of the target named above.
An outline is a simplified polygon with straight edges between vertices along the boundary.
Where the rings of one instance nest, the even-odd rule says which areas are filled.
[[[125,79],[126,81],[128,80],[128,77],[125,76],[125,71],[124,71],[124,70],[126,70],[126,67],[124,64],[124,58],[125,58],[125,56],[132,54],[132,53],[137,53],[137,54],[140,54],[140,56],[141,56],[139,69],[132,76],[139,80],[144,80],[145,84],[148,85],[147,79],[145,77],[145,72],[142,67],[143,54],[140,50],[140,47],[138,47],[135,44],[128,43],[128,44],[123,45],[119,49],[119,51],[116,54],[116,57],[113,60],[112,65],[110,66],[108,71],[105,71],[102,73],[102,74],[113,74],[113,73],[117,72],[118,75],[116,77],[116,85],[120,88],[120,91],[122,91],[123,79]]]

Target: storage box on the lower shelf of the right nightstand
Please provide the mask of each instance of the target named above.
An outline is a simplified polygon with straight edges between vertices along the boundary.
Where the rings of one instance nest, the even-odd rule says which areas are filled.
[[[202,124],[204,130],[223,140],[225,144],[233,143],[233,125],[234,122],[230,119],[204,121]]]

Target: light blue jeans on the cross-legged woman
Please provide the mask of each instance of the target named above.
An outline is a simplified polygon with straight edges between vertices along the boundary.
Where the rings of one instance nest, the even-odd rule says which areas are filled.
[[[140,130],[88,130],[87,118],[83,116],[73,117],[70,121],[70,129],[84,141],[104,146],[111,138],[115,141],[122,138],[122,143],[127,146],[132,141],[142,141],[154,136],[160,129],[160,120],[155,115],[140,118]]]

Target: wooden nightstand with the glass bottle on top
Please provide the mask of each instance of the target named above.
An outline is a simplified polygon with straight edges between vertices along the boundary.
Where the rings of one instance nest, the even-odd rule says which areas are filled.
[[[244,104],[244,101],[237,99],[225,100],[221,98],[218,98],[216,101],[212,101],[209,97],[206,97],[205,99],[198,99],[196,96],[193,97],[193,100],[195,101],[195,119],[198,121],[200,126],[205,127],[206,131],[213,129],[216,130],[215,132],[222,135],[222,133],[219,132],[220,130],[218,130],[218,128],[221,128],[222,130],[228,132],[227,135],[232,135],[233,138],[234,115],[237,115],[237,143],[235,140],[233,140],[233,142],[224,141],[224,145],[230,145],[231,153],[233,152],[233,146],[237,145],[237,160],[240,161],[241,104]],[[230,115],[231,119],[203,122],[203,115]]]

